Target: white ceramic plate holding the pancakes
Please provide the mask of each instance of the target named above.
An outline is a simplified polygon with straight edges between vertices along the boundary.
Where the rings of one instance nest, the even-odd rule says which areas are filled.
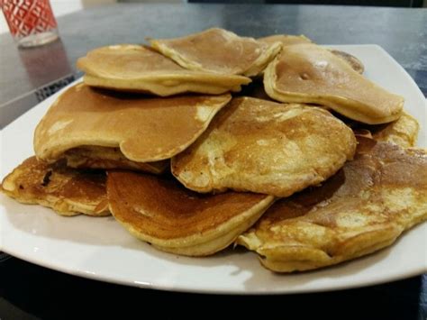
[[[332,47],[332,46],[331,46]],[[366,76],[404,96],[421,123],[426,147],[427,105],[413,79],[377,45],[333,46],[365,64]],[[59,94],[1,132],[1,177],[31,156],[32,133]],[[61,217],[0,195],[0,250],[25,261],[90,279],[143,288],[210,293],[295,293],[367,286],[427,272],[427,224],[404,233],[386,250],[339,266],[295,275],[263,269],[257,255],[227,250],[210,258],[163,253],[140,242],[113,217]]]

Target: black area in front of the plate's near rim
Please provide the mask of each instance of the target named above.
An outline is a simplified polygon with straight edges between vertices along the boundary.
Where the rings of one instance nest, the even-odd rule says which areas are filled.
[[[251,319],[260,312],[285,320],[425,320],[426,281],[414,277],[302,295],[198,295],[78,278],[12,258],[0,262],[0,318],[223,320]],[[226,316],[233,313],[238,316]]]

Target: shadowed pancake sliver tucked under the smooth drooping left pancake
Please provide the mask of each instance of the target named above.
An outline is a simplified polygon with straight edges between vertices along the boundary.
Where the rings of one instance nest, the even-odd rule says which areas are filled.
[[[124,157],[119,148],[84,146],[65,151],[67,166],[78,169],[132,169],[155,174],[165,172],[169,160],[135,162]]]

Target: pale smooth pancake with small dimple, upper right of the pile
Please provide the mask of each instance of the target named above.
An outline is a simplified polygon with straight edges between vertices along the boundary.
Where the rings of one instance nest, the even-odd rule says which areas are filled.
[[[399,118],[404,98],[387,92],[315,44],[283,47],[264,74],[268,96],[281,102],[324,105],[362,123]]]

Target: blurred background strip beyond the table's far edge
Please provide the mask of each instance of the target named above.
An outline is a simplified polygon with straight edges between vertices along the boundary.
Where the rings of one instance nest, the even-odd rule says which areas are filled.
[[[228,3],[228,4],[305,4],[305,5],[377,5],[398,7],[427,7],[427,0],[50,0],[56,17],[94,5],[124,3]],[[5,17],[0,14],[0,33],[8,32]]]

